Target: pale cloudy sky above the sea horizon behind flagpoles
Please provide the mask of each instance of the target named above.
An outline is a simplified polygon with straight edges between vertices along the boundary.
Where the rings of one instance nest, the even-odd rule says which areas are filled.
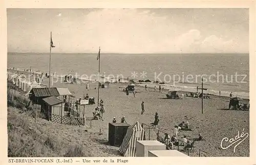
[[[8,52],[248,53],[248,9],[7,9]]]

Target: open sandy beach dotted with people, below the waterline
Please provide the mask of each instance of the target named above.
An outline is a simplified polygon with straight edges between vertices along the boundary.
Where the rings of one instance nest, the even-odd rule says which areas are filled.
[[[48,78],[44,79],[43,84],[48,85]],[[86,89],[86,83],[67,84],[65,82],[55,82],[52,87],[68,88],[76,98],[82,97],[83,94],[86,95],[87,93],[89,96],[95,97],[96,104],[86,105],[86,118],[92,118],[92,112],[97,106],[97,89],[94,89],[97,88],[97,83],[91,83],[89,91]],[[100,99],[103,99],[106,109],[103,116],[104,121],[92,120],[92,128],[84,128],[88,132],[99,133],[101,131],[102,135],[91,139],[88,135],[85,136],[84,134],[70,131],[69,127],[72,126],[66,125],[61,126],[64,129],[59,128],[59,131],[56,131],[55,134],[60,137],[63,136],[71,142],[84,143],[83,146],[92,151],[92,156],[120,156],[116,152],[118,150],[117,147],[103,145],[108,142],[108,124],[112,122],[113,117],[116,117],[117,122],[120,122],[121,118],[125,116],[126,122],[131,125],[137,121],[150,124],[154,122],[154,115],[157,112],[160,116],[158,128],[169,133],[170,136],[173,135],[174,125],[182,121],[188,121],[194,131],[181,131],[178,139],[181,139],[183,135],[186,135],[188,139],[194,139],[198,137],[199,133],[202,134],[204,141],[195,142],[195,151],[189,153],[190,156],[198,156],[199,149],[211,154],[207,156],[249,156],[249,137],[236,147],[235,153],[233,152],[234,145],[225,150],[220,149],[220,144],[224,137],[235,138],[238,135],[238,131],[241,133],[243,129],[244,133],[249,133],[249,112],[227,110],[228,97],[211,96],[211,99],[204,99],[202,114],[200,98],[166,99],[163,93],[154,92],[154,89],[145,91],[143,87],[138,86],[135,87],[138,93],[134,98],[133,94],[126,96],[120,87],[125,87],[125,85],[115,83],[110,84],[108,89],[99,90]],[[145,102],[145,113],[143,115],[141,115],[142,101]],[[90,126],[90,120],[87,120],[86,123]],[[78,129],[79,127],[77,126],[76,128]],[[56,128],[45,129],[45,131],[55,130]],[[151,129],[151,140],[156,140],[156,133],[156,129]],[[160,133],[160,135],[164,137],[163,133]],[[74,136],[76,136],[77,140],[74,140]],[[146,129],[146,139],[148,139],[148,129]],[[101,147],[94,149],[95,145],[88,146],[90,141],[93,144],[101,145]],[[229,145],[227,142],[223,144],[225,146]],[[105,150],[106,148],[108,150]],[[101,149],[102,151],[99,151]]]

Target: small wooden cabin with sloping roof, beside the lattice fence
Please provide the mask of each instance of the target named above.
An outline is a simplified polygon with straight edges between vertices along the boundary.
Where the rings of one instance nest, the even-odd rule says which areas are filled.
[[[53,117],[59,118],[63,116],[64,108],[62,107],[62,103],[63,101],[58,99],[56,96],[50,96],[42,99],[41,109],[45,112],[47,119],[52,120]]]

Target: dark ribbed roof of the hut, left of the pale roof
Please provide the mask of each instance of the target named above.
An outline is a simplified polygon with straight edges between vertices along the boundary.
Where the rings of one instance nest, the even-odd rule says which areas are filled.
[[[57,88],[32,88],[35,97],[59,96]]]

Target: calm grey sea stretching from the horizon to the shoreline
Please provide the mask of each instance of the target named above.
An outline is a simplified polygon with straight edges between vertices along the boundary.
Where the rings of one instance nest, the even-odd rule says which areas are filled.
[[[8,53],[8,68],[49,73],[49,53]],[[57,76],[77,74],[80,79],[97,79],[97,53],[51,53],[51,73]],[[249,98],[248,53],[200,54],[100,54],[100,77],[111,81],[150,80],[148,87],[164,82],[164,89],[194,92],[197,87],[206,93],[229,96],[230,92]],[[145,86],[144,83],[140,86]]]

